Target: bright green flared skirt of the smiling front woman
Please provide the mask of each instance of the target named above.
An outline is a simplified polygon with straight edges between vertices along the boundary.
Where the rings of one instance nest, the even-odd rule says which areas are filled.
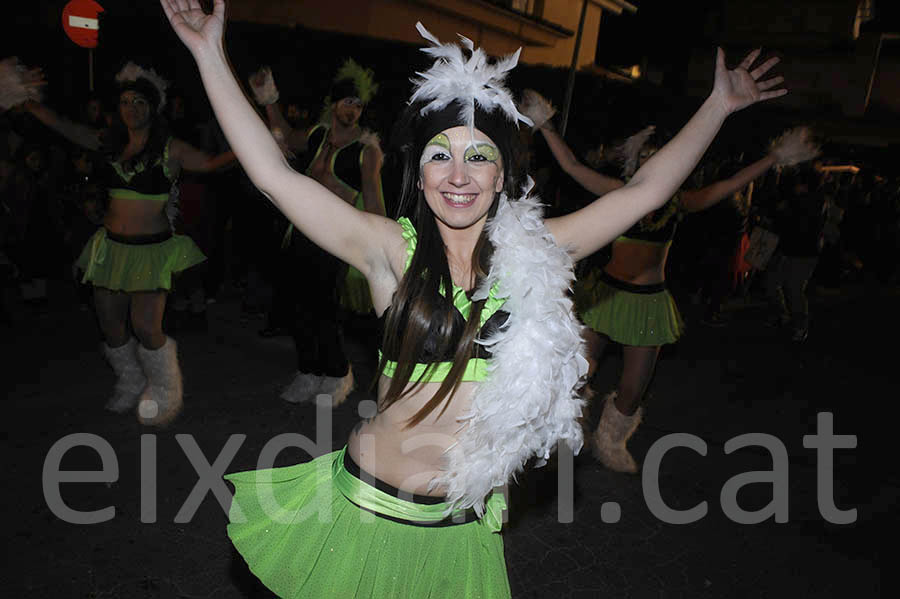
[[[417,526],[360,509],[338,488],[347,486],[341,477],[352,476],[345,451],[225,477],[235,487],[228,536],[269,589],[297,598],[510,596],[500,534],[483,521]],[[392,498],[397,502],[408,503]],[[417,509],[421,504],[410,505]]]

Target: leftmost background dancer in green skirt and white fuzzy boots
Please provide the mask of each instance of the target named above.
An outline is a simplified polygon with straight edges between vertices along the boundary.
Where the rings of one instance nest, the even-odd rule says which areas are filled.
[[[232,162],[234,154],[212,157],[169,134],[159,116],[166,83],[152,69],[128,63],[116,81],[119,119],[108,129],[73,123],[33,100],[25,108],[70,141],[106,157],[102,177],[109,206],[103,227],[77,262],[83,281],[94,286],[103,353],[117,377],[106,409],[124,413],[137,407],[141,423],[164,425],[182,407],[176,344],[162,330],[166,295],[173,273],[206,259],[189,237],[172,234],[167,206],[172,207],[172,187],[182,169],[213,171]]]

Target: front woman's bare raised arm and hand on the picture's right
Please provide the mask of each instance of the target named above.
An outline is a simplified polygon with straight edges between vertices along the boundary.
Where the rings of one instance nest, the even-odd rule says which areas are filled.
[[[581,210],[548,219],[556,242],[569,248],[576,259],[607,245],[678,191],[729,114],[786,94],[785,89],[773,89],[781,84],[782,77],[759,81],[778,58],[770,58],[750,70],[759,54],[759,50],[751,52],[737,68],[728,70],[725,54],[719,48],[713,91],[691,120],[638,169],[625,187]]]

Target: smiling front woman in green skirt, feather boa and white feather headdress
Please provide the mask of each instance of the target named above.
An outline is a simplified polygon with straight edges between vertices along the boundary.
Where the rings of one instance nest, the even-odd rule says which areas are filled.
[[[661,206],[725,117],[780,96],[720,53],[709,99],[602,201],[544,221],[518,163],[521,115],[504,86],[518,53],[429,42],[396,135],[408,219],[362,212],[293,171],[231,71],[225,6],[162,0],[250,178],[304,235],[355,266],[384,318],[378,410],[344,449],[230,475],[228,533],[287,597],[508,597],[496,491],[559,441],[581,447],[587,362],[567,290],[573,262]],[[324,292],[324,290],[323,290]]]

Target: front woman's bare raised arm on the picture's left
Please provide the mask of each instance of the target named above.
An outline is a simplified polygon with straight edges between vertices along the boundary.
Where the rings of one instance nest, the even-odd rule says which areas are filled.
[[[197,0],[160,3],[194,56],[222,131],[253,183],[304,235],[363,274],[389,265],[396,241],[402,241],[399,225],[356,210],[294,171],[244,96],[223,46],[224,0],[215,0],[212,14],[204,13]]]

